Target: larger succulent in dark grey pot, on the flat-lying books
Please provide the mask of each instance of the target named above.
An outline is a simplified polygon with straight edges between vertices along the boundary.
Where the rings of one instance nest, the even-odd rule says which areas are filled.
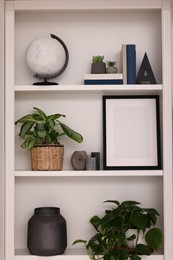
[[[106,73],[106,63],[103,60],[104,56],[101,55],[92,57],[91,74]]]

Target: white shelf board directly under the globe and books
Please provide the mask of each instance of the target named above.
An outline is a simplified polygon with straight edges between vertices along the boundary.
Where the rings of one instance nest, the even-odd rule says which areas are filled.
[[[163,86],[157,85],[53,85],[53,86],[33,86],[16,85],[15,92],[153,92],[162,91]]]

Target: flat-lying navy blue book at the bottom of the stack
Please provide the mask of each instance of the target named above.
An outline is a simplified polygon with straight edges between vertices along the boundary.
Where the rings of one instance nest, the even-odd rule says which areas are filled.
[[[85,79],[85,85],[121,85],[123,79]]]

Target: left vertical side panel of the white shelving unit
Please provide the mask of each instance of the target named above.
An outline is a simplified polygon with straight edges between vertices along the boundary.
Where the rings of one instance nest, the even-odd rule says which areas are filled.
[[[5,257],[14,259],[14,4],[6,9],[5,20]]]

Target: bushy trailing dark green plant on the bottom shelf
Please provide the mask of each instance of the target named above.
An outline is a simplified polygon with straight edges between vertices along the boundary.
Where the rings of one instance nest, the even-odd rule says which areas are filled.
[[[73,243],[83,243],[91,259],[140,260],[140,255],[150,255],[161,246],[163,235],[155,226],[159,216],[156,209],[142,208],[136,201],[105,202],[116,207],[106,210],[101,218],[96,215],[90,219],[96,234],[89,241],[78,239]],[[128,235],[127,231],[131,229],[132,233]],[[140,232],[144,243],[139,241]],[[133,242],[132,246],[129,242]]]

